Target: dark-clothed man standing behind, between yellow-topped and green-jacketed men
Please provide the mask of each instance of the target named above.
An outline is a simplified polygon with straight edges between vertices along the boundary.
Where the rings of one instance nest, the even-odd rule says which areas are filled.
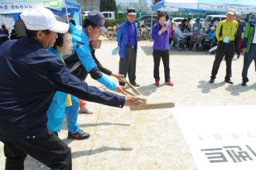
[[[236,52],[237,59],[239,59],[240,57],[239,41],[241,39],[242,33],[244,33],[244,30],[246,29],[246,22],[244,22],[244,20],[241,20],[240,13],[236,14],[236,21],[238,22],[238,28],[234,36],[234,52]]]

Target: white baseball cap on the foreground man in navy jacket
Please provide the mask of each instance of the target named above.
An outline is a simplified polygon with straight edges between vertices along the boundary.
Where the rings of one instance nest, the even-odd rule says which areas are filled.
[[[69,25],[58,22],[51,10],[44,7],[25,10],[20,14],[28,30],[51,30],[57,33],[67,33]]]

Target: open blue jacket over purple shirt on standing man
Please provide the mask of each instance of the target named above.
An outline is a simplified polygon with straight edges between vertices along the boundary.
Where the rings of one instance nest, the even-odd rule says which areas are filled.
[[[138,25],[136,22],[133,22],[135,26],[135,30],[138,30]],[[125,59],[125,51],[126,51],[126,38],[127,38],[127,28],[128,28],[128,20],[122,23],[122,25],[118,28],[117,31],[117,45],[120,47],[119,56]],[[135,33],[135,42],[136,42],[136,52],[138,50],[138,32]]]

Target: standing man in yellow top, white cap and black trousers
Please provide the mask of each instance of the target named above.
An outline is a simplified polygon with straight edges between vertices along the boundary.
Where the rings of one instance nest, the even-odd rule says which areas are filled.
[[[226,20],[223,20],[218,23],[216,29],[216,38],[218,40],[217,50],[215,55],[215,60],[213,62],[212,67],[212,76],[209,83],[214,83],[216,75],[218,73],[218,68],[220,68],[220,63],[225,56],[226,61],[226,76],[225,81],[226,83],[233,84],[231,81],[231,63],[234,56],[234,35],[236,34],[238,23],[234,20],[236,16],[235,9],[228,9],[226,13]]]

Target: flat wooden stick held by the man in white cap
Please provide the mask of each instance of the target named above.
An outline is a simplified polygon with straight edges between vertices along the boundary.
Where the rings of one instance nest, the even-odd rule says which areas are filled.
[[[146,105],[141,105],[141,107],[130,107],[131,111],[134,110],[149,110],[149,109],[159,109],[159,108],[173,108],[175,107],[174,102],[167,103],[148,103]]]

